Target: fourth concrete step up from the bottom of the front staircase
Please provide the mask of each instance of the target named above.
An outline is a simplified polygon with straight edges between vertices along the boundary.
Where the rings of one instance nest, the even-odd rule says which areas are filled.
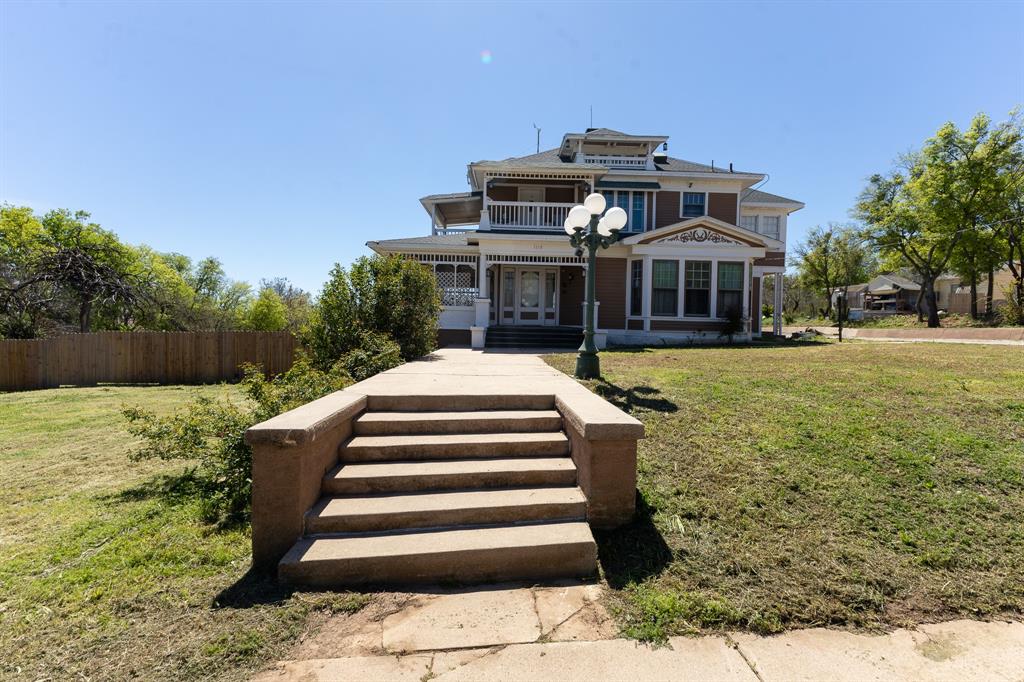
[[[342,445],[341,461],[558,457],[567,455],[568,452],[568,438],[561,432],[355,436]]]

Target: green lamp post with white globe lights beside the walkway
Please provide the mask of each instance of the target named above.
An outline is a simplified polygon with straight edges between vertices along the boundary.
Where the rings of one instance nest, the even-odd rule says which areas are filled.
[[[584,321],[583,345],[577,356],[578,379],[596,379],[601,376],[601,360],[594,344],[594,298],[597,296],[597,250],[607,249],[626,226],[626,211],[614,206],[604,212],[604,197],[593,194],[582,206],[573,206],[565,218],[565,232],[569,244],[577,250],[577,258],[587,251],[587,319]],[[604,213],[602,217],[601,214]]]

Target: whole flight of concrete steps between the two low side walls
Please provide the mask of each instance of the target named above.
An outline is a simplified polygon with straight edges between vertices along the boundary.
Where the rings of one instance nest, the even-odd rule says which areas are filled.
[[[327,586],[593,576],[597,548],[561,416],[536,396],[488,396],[486,407],[375,399],[353,420],[280,578]]]

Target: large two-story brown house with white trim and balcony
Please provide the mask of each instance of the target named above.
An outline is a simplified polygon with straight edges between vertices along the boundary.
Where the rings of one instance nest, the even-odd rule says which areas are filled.
[[[763,173],[669,157],[664,135],[605,128],[554,150],[469,164],[469,191],[420,200],[430,235],[369,242],[433,268],[442,344],[484,345],[494,326],[583,324],[585,260],[562,223],[600,191],[629,222],[599,253],[597,326],[611,343],[717,339],[729,309],[760,335],[761,282],[781,297],[786,220],[801,202],[754,189]],[[781,331],[781,305],[775,322]]]

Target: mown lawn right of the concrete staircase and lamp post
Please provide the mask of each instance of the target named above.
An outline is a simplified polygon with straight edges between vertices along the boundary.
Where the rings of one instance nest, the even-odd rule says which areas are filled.
[[[1022,367],[980,345],[602,353],[590,388],[647,427],[637,519],[598,538],[624,632],[1019,616]]]

